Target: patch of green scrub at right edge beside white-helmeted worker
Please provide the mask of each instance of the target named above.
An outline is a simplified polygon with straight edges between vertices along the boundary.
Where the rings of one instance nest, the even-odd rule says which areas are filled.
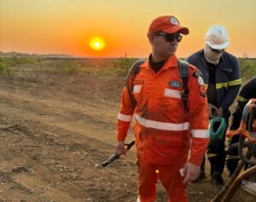
[[[249,58],[238,59],[242,83],[256,75],[256,60]]]

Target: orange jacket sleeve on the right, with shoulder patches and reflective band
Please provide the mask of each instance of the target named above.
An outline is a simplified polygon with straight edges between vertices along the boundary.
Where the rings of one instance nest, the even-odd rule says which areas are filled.
[[[202,158],[207,151],[209,143],[209,117],[207,109],[207,95],[202,78],[196,78],[194,66],[189,66],[188,78],[188,108],[189,125],[192,135],[189,162],[201,165]]]

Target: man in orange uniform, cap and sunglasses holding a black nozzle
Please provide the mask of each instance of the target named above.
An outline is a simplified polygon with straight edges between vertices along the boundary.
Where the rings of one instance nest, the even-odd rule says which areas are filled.
[[[117,121],[117,152],[125,153],[125,137],[134,116],[134,135],[139,166],[138,198],[153,202],[158,178],[168,201],[188,201],[187,184],[200,173],[209,141],[207,98],[195,66],[188,65],[188,101],[183,103],[183,79],[175,52],[189,29],[174,16],[160,16],[148,28],[152,53],[139,66],[132,82],[132,107],[127,87],[123,90]]]

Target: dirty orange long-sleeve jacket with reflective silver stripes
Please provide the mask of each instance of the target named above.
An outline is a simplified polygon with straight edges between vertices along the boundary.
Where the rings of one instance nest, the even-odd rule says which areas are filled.
[[[130,84],[137,104],[133,109],[126,87],[117,120],[117,141],[125,141],[131,120],[137,155],[152,164],[200,165],[209,141],[207,97],[198,71],[189,65],[187,106],[181,99],[183,80],[172,55],[155,73],[145,61]],[[129,80],[131,82],[131,80]],[[192,141],[191,141],[192,140]]]

